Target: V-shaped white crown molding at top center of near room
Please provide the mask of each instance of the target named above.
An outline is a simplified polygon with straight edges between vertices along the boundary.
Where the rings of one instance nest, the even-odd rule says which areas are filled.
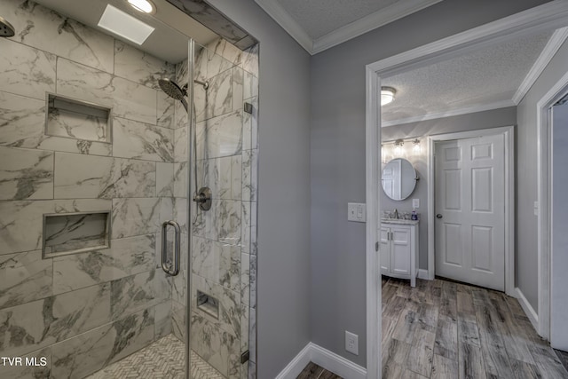
[[[312,39],[304,28],[280,5],[278,0],[255,0],[256,4],[260,5],[264,12],[272,17],[272,20],[275,20],[280,27],[286,30],[286,32],[311,55],[349,41],[351,38],[361,36],[373,29],[381,28],[383,25],[402,19],[409,14],[421,11],[441,1],[442,0],[407,0],[391,4],[380,11],[368,14],[362,19],[353,21],[342,28],[337,28],[327,33],[325,36]]]

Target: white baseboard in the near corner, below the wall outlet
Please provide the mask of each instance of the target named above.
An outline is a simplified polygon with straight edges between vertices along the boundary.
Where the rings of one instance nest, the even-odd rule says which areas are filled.
[[[335,352],[328,351],[315,343],[308,343],[304,349],[288,363],[288,366],[284,367],[280,374],[276,376],[276,379],[296,379],[302,370],[304,370],[304,367],[310,362],[343,378],[367,378],[367,370],[364,367],[360,367],[351,362],[351,360],[344,359],[342,356],[335,354]]]

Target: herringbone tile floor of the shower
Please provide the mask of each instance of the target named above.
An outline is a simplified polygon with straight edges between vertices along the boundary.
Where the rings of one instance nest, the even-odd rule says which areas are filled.
[[[224,379],[195,352],[191,355],[192,379]],[[169,335],[88,376],[88,379],[181,379],[184,377],[184,356],[184,343]]]

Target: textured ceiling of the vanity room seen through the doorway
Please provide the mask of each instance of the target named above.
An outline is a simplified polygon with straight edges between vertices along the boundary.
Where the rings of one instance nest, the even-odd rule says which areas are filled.
[[[397,90],[383,122],[511,101],[552,32],[519,38],[384,78]]]

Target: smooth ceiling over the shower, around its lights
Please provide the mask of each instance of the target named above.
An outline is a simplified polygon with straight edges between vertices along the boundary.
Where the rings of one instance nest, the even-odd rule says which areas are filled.
[[[2,0],[0,0],[2,1]],[[189,16],[185,15],[183,12],[177,11],[173,5],[166,3],[163,0],[154,0],[157,12],[155,17],[148,17],[140,12],[132,10],[132,8],[125,4],[126,2],[122,0],[90,0],[90,1],[78,1],[78,0],[35,0],[36,3],[42,4],[43,6],[59,12],[67,17],[75,19],[83,24],[99,29],[103,33],[108,34],[104,29],[97,26],[99,24],[100,16],[105,11],[106,4],[113,4],[122,11],[129,12],[134,17],[146,22],[155,28],[154,33],[148,37],[146,42],[142,46],[137,44],[132,44],[127,40],[123,40],[125,43],[132,44],[137,49],[146,51],[147,53],[154,55],[171,63],[177,63],[183,59],[187,58],[187,37],[180,33],[179,31],[170,28],[166,24],[162,23],[162,20],[168,20],[169,23],[177,21],[177,24],[183,23],[185,25],[185,30],[183,32],[192,36],[197,43],[202,45],[209,43],[210,41],[217,38],[217,35],[211,32],[208,28],[203,27],[199,22],[191,19]],[[181,18],[181,20],[176,20]],[[157,19],[157,20],[156,20]],[[114,36],[115,38],[120,38]]]

